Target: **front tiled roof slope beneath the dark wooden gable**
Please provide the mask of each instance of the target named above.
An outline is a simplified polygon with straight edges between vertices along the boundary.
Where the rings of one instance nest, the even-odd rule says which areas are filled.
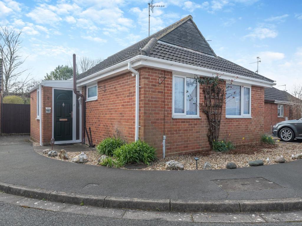
[[[271,79],[255,74],[254,72],[221,57],[216,58],[164,43],[158,42],[149,56],[273,82]]]

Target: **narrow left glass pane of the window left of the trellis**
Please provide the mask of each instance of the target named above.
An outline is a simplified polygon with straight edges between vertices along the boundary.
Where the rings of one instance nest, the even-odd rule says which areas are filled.
[[[185,79],[174,77],[174,113],[185,113]]]

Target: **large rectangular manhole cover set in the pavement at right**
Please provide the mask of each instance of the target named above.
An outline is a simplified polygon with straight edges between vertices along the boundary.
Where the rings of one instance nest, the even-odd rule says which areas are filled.
[[[262,177],[212,181],[226,192],[283,188],[280,185]]]

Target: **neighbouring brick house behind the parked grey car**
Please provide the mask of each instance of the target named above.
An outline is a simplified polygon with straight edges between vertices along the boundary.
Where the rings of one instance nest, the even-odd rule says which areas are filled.
[[[264,89],[265,133],[271,133],[278,122],[302,118],[302,100],[286,91]]]

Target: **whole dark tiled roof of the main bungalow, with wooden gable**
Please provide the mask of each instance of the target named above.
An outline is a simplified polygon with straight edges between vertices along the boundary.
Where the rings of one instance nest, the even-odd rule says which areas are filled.
[[[274,82],[273,80],[241,67],[238,64],[218,57],[198,30],[191,15],[150,35],[134,45],[109,56],[95,67],[79,74],[77,80],[137,55],[147,55],[215,71]]]

